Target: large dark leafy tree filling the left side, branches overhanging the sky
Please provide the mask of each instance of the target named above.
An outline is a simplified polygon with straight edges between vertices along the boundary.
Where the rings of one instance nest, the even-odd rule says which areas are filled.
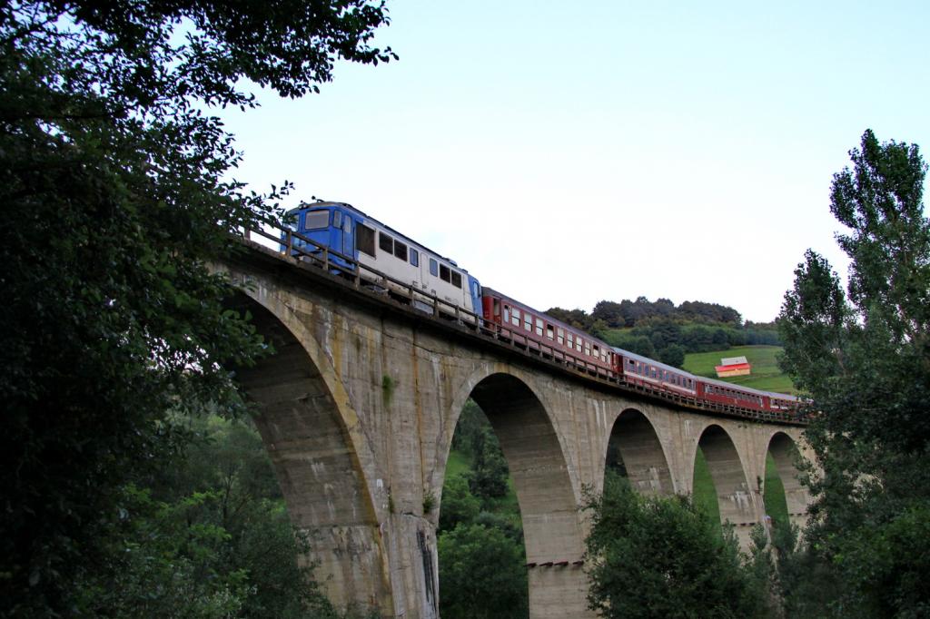
[[[206,262],[286,192],[226,180],[215,106],[239,86],[299,97],[337,58],[378,62],[379,2],[0,6],[0,597],[82,612],[123,488],[173,454],[169,409],[240,406],[230,373],[267,351]]]

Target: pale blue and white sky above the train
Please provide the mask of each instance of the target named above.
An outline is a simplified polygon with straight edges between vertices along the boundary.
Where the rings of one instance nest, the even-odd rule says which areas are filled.
[[[255,191],[346,202],[539,310],[773,320],[871,128],[930,152],[930,2],[388,0],[304,99],[223,112]]]

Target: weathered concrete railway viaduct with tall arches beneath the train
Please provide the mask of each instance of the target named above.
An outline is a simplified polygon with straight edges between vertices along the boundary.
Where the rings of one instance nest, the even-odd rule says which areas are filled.
[[[468,398],[511,470],[531,617],[591,616],[578,506],[586,487],[603,486],[612,433],[634,487],[649,494],[690,494],[699,446],[721,518],[743,543],[764,517],[769,452],[791,518],[804,518],[792,460],[801,428],[702,415],[553,372],[258,247],[216,269],[275,349],[239,380],[290,518],[311,536],[304,560],[338,606],[438,617],[436,527]]]

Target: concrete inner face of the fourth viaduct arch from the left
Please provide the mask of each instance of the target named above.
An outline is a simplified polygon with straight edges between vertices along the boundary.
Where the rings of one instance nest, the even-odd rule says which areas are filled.
[[[748,547],[751,525],[758,519],[752,488],[736,445],[724,428],[711,424],[704,428],[697,447],[711,471],[721,522],[735,525],[740,545]]]

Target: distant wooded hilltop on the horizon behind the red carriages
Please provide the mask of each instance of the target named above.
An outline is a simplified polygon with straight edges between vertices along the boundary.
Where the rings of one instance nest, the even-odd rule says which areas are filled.
[[[611,346],[676,367],[681,367],[688,352],[781,346],[775,323],[743,323],[737,310],[718,303],[684,301],[676,307],[667,298],[653,302],[640,296],[635,301],[600,301],[590,314],[562,308],[546,313]]]

